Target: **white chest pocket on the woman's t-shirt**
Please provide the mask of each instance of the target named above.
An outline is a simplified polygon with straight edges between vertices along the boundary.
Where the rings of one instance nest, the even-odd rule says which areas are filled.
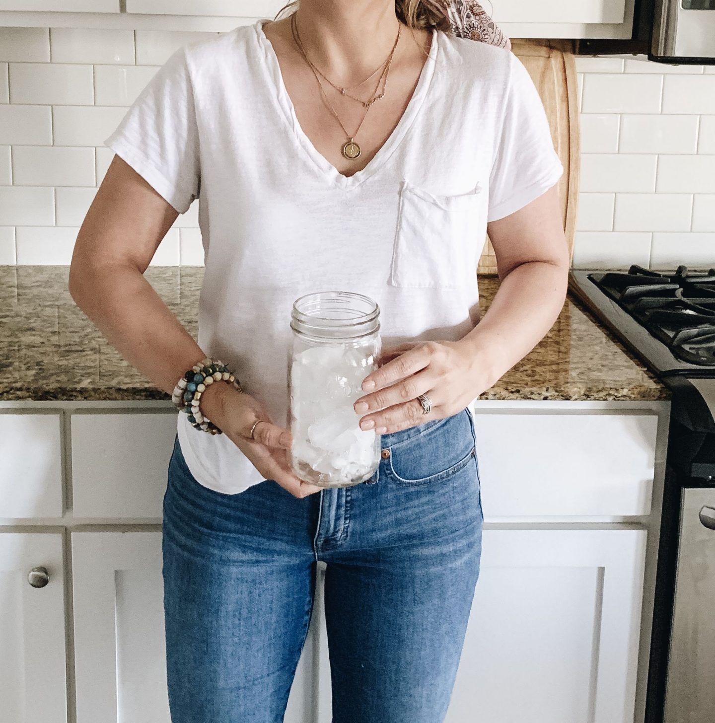
[[[440,196],[403,181],[390,286],[458,288],[474,278],[483,200],[479,184]]]

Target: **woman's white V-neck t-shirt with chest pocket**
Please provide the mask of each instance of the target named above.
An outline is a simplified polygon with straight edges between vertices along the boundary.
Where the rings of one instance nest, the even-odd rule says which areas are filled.
[[[106,145],[179,213],[199,200],[199,345],[287,425],[298,296],[367,294],[385,348],[456,341],[479,320],[487,221],[523,208],[563,167],[521,61],[434,30],[388,141],[342,176],[301,130],[262,22],[177,51]],[[185,414],[178,435],[206,487],[262,482],[226,435],[193,429]]]

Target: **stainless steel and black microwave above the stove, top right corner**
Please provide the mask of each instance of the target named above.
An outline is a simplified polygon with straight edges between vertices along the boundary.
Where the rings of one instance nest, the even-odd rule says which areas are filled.
[[[577,40],[578,54],[647,54],[670,64],[715,65],[715,0],[633,0],[629,40]]]

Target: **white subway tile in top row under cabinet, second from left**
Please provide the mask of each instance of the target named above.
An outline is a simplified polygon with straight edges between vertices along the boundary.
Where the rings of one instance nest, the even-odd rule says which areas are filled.
[[[53,27],[50,30],[53,63],[134,63],[132,30],[87,30]]]

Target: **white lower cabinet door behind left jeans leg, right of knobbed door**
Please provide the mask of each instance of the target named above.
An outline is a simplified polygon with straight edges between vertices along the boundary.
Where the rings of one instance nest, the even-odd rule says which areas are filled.
[[[161,532],[74,532],[77,723],[169,723]],[[286,723],[312,718],[312,635]],[[4,723],[4,722],[3,722]]]

